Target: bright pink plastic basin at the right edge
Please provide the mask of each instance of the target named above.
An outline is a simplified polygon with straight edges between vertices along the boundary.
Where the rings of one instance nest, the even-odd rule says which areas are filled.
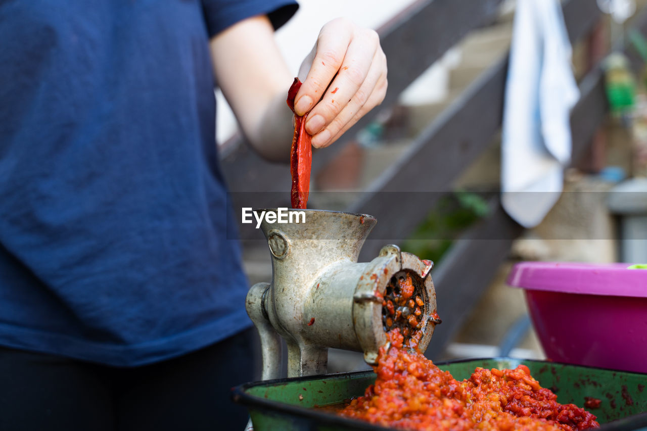
[[[647,373],[647,269],[630,265],[514,265],[508,284],[525,289],[549,359]]]

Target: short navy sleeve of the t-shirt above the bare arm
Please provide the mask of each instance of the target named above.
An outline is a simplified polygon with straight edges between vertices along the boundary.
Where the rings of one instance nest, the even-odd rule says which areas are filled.
[[[267,15],[276,30],[299,7],[294,0],[202,0],[202,5],[209,37],[257,15]]]

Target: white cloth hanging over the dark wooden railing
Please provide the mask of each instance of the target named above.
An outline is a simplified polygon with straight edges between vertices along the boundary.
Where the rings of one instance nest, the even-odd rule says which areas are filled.
[[[526,228],[562,192],[571,160],[569,114],[580,93],[558,0],[518,0],[503,107],[501,204]]]

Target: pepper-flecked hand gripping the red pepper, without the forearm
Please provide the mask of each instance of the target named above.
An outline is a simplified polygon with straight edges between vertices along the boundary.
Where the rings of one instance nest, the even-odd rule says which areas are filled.
[[[296,94],[296,113],[308,113],[305,130],[313,135],[313,146],[329,146],[384,100],[386,56],[377,33],[344,18],[330,21],[303,60],[299,77],[303,85]]]

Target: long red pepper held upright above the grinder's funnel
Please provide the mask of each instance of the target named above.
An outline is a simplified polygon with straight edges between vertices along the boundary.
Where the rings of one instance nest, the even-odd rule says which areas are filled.
[[[294,78],[287,93],[287,105],[294,112],[294,98],[301,87],[299,78]],[[294,135],[290,153],[290,173],[292,174],[292,190],[290,200],[292,208],[304,208],[310,192],[310,170],[313,163],[313,136],[305,131],[306,115],[299,116],[294,112]]]

